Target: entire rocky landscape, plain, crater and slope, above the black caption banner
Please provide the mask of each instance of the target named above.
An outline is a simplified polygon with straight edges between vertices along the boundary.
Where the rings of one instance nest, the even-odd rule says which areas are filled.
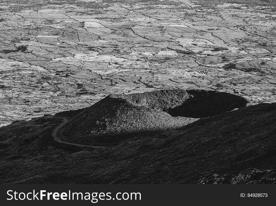
[[[2,0],[0,183],[275,183],[273,0]]]

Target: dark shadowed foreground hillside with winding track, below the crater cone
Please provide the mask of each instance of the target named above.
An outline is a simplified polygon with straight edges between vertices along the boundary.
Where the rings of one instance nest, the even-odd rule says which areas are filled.
[[[83,111],[0,128],[0,182],[208,183],[223,182],[217,174],[227,174],[233,177],[230,182],[244,183],[242,175],[251,173],[257,175],[255,183],[276,178],[276,103],[239,108],[178,129],[141,133],[104,149],[88,151],[55,141],[55,128]]]

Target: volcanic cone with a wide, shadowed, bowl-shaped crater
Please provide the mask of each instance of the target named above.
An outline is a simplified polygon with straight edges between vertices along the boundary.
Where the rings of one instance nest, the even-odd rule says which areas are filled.
[[[116,145],[135,135],[175,129],[234,108],[247,100],[225,92],[159,90],[109,95],[70,119],[58,131],[66,142]]]

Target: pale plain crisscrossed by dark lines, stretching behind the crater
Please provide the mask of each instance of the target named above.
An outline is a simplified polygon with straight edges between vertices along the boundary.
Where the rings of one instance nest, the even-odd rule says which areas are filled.
[[[112,93],[276,101],[273,0],[2,0],[0,11],[2,126]]]

